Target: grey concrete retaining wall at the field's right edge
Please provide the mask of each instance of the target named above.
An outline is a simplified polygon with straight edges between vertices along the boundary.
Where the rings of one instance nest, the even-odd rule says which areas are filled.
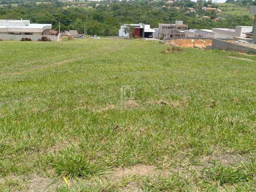
[[[228,51],[234,51],[234,52],[241,52],[241,53],[254,53],[256,54],[256,49],[242,46],[239,44],[234,44],[231,42],[227,42],[220,39],[213,39],[212,40],[212,49],[222,49],[222,50],[228,50]]]

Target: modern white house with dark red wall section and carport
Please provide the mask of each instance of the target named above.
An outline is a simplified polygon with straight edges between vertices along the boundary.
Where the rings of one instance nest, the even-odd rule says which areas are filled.
[[[130,38],[129,30],[126,29],[134,29],[133,37],[141,37],[141,38],[152,38],[154,35],[155,30],[150,28],[150,25],[139,23],[139,24],[124,24],[119,29],[119,36]]]

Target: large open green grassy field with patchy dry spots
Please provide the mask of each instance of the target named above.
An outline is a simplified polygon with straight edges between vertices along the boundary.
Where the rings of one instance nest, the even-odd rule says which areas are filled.
[[[256,57],[166,48],[0,42],[0,191],[255,191]]]

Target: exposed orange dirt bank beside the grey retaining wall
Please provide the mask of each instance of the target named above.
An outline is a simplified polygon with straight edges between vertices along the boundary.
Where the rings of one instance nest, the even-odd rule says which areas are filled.
[[[169,43],[181,46],[181,47],[200,47],[206,48],[206,46],[212,45],[212,40],[208,39],[173,39],[170,40]]]

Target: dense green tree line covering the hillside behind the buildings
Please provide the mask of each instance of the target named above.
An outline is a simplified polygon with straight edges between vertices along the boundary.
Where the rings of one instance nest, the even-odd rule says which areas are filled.
[[[96,6],[96,3],[100,4]],[[158,27],[158,23],[174,23],[175,20],[183,20],[189,28],[211,29],[211,28],[234,28],[236,25],[252,26],[253,20],[249,16],[224,16],[224,20],[213,22],[211,19],[202,19],[202,16],[218,17],[215,11],[202,10],[202,6],[214,5],[210,1],[179,0],[173,4],[165,1],[111,1],[80,2],[93,8],[82,6],[70,6],[58,0],[50,3],[36,4],[36,1],[22,2],[17,6],[8,4],[0,7],[0,19],[27,19],[32,23],[52,24],[53,29],[78,30],[84,32],[84,22],[87,22],[87,33],[104,36],[118,35],[120,25],[124,23],[146,23],[152,28]],[[175,7],[180,7],[177,9]],[[188,7],[198,9],[197,12],[186,12]]]

